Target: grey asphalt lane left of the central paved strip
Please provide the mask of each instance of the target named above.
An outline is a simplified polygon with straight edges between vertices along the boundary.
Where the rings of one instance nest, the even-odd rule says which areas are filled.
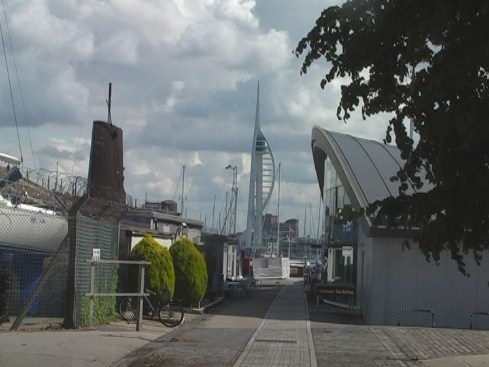
[[[252,297],[226,299],[113,366],[232,366],[286,284],[268,280]]]

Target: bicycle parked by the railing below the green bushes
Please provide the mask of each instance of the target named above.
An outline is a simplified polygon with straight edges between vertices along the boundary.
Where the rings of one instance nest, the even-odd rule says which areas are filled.
[[[143,296],[143,316],[152,320],[158,315],[160,322],[166,327],[175,327],[182,323],[184,311],[179,300],[165,298],[150,289],[146,289],[150,296],[157,297],[158,304],[153,306],[149,298]],[[138,315],[138,297],[124,297],[119,305],[119,314],[126,321],[134,321]]]

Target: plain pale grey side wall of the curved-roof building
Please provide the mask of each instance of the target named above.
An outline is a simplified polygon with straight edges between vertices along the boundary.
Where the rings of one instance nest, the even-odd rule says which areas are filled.
[[[357,304],[370,324],[396,325],[400,310],[410,308],[433,310],[437,327],[467,328],[472,312],[489,312],[489,251],[481,266],[472,254],[465,262],[470,277],[458,271],[447,251],[436,265],[415,244],[408,249],[398,238],[359,233]],[[431,326],[431,314],[401,313],[401,325]],[[489,328],[489,317],[477,317],[474,326]]]

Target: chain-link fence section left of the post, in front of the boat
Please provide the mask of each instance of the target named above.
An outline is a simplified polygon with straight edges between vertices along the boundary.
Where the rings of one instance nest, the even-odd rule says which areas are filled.
[[[48,328],[64,318],[68,209],[80,177],[0,170],[0,329]]]

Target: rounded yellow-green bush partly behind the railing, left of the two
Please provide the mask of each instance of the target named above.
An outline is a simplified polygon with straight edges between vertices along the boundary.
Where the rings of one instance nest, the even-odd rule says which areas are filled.
[[[145,260],[151,262],[145,272],[145,287],[159,293],[173,296],[175,291],[175,270],[170,251],[161,246],[153,236],[148,233],[139,241],[131,251],[131,260]],[[137,267],[131,266],[131,286],[137,290]],[[168,295],[168,294],[167,294]]]

